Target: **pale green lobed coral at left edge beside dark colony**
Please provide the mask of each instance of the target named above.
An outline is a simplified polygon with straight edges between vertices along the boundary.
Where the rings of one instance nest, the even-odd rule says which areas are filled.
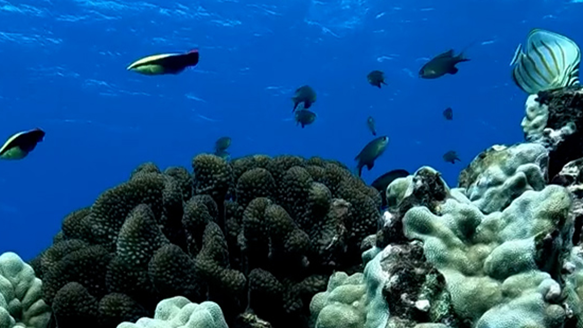
[[[45,328],[51,317],[42,281],[12,252],[0,256],[0,328]]]

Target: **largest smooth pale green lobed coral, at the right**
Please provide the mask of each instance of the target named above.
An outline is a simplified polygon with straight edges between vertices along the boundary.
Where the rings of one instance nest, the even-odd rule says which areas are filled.
[[[553,304],[561,287],[550,267],[570,252],[571,203],[568,191],[554,185],[525,191],[503,212],[487,215],[475,204],[448,198],[437,214],[410,209],[403,231],[423,240],[456,313],[477,327],[560,327],[556,323],[566,311]],[[552,233],[553,245],[559,245],[554,252],[563,254],[541,246]]]

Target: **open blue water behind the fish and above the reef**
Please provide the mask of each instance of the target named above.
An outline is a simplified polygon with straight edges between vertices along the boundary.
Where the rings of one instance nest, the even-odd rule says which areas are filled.
[[[522,140],[515,47],[534,27],[583,43],[579,2],[0,0],[0,138],[47,133],[27,158],[0,162],[0,253],[36,256],[65,215],[140,163],[191,170],[222,135],[233,158],[287,153],[352,168],[373,139],[372,115],[391,141],[363,179],[430,165],[455,185],[480,151]],[[417,77],[430,57],[470,44],[458,74]],[[180,75],[125,70],[191,48],[200,62]],[[368,85],[373,69],[388,86]],[[290,97],[304,84],[318,93],[318,118],[302,129]],[[449,150],[462,162],[445,163]]]

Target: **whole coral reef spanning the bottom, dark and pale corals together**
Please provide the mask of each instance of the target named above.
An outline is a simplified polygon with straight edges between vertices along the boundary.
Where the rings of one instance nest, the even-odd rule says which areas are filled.
[[[582,328],[583,162],[541,135],[458,188],[394,180],[382,215],[331,160],[145,163],[30,265],[0,256],[0,328]]]

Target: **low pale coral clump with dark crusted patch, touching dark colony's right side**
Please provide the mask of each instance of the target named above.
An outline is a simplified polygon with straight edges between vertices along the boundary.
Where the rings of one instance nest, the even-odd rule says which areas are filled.
[[[424,321],[458,326],[444,277],[425,260],[420,242],[372,251],[364,274],[337,272],[326,291],[312,298],[315,328],[412,327]]]

